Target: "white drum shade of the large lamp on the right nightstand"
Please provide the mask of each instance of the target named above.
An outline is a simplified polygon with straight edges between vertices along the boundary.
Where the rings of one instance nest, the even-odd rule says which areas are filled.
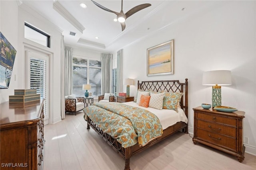
[[[202,85],[207,86],[227,86],[231,85],[231,71],[230,70],[214,70],[203,73]]]

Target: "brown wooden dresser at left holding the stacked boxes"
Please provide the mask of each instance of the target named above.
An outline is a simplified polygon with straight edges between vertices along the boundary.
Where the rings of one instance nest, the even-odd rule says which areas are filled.
[[[0,169],[43,169],[44,100],[0,104]]]

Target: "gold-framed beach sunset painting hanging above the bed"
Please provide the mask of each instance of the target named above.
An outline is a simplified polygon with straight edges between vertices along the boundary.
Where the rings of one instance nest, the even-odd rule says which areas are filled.
[[[174,39],[147,49],[147,76],[174,74]]]

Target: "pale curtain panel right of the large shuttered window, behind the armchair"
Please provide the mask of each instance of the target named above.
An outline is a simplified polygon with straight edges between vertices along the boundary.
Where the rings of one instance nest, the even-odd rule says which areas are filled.
[[[112,89],[112,54],[101,54],[101,93],[110,93]]]

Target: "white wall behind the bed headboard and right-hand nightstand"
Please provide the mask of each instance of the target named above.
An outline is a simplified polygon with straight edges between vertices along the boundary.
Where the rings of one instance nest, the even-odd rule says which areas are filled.
[[[193,133],[193,107],[211,104],[211,87],[202,86],[202,73],[231,70],[232,86],[222,86],[222,106],[245,111],[246,152],[256,155],[256,2],[232,1],[198,12],[170,27],[149,35],[123,49],[123,76],[137,80],[180,80],[189,82],[189,132]],[[148,76],[147,48],[174,39],[174,74]],[[118,51],[119,49],[116,49]],[[143,64],[142,64],[143,63]],[[132,67],[131,67],[132,66]]]

